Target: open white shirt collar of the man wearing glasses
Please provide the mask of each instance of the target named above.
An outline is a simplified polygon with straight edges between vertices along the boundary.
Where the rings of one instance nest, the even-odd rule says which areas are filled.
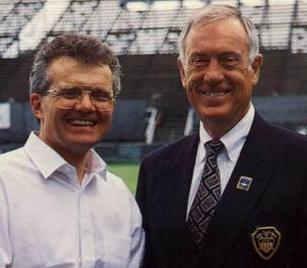
[[[37,132],[31,132],[24,147],[26,153],[45,179],[50,178],[56,171],[74,168],[60,154],[43,142],[38,137]],[[90,151],[87,168],[88,173],[99,173],[106,180],[106,163],[94,150]]]

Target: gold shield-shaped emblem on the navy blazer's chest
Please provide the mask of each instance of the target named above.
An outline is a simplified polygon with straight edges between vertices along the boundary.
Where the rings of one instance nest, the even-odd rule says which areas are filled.
[[[258,255],[269,260],[279,248],[281,234],[274,226],[258,227],[252,233],[253,246]]]

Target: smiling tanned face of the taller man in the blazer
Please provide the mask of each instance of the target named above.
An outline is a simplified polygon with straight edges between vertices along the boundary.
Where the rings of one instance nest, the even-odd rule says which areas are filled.
[[[262,63],[261,55],[250,63],[248,53],[247,34],[236,19],[197,25],[188,33],[185,62],[178,60],[181,81],[212,136],[226,133],[248,111]]]

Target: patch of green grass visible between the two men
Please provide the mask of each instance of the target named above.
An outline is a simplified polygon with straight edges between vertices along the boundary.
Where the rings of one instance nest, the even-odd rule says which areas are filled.
[[[137,163],[110,163],[110,171],[121,177],[131,192],[135,193],[139,164]]]

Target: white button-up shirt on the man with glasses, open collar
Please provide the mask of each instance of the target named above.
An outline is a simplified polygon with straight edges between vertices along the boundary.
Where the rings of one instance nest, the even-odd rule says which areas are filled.
[[[123,181],[90,152],[76,169],[31,133],[0,156],[0,268],[137,268],[144,231]]]

